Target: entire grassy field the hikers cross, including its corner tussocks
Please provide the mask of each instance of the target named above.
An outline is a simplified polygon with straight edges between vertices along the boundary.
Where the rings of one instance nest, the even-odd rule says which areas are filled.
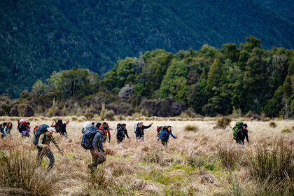
[[[60,155],[51,144],[55,167],[50,173],[45,172],[48,158],[43,158],[40,168],[35,167],[37,151],[32,144],[32,130],[34,125],[51,125],[52,120],[31,118],[31,137],[22,139],[16,130],[17,119],[0,119],[12,120],[14,126],[12,137],[6,137],[0,143],[0,192],[3,195],[294,193],[294,120],[272,120],[276,127],[270,127],[269,122],[242,119],[248,123],[250,140],[244,148],[232,139],[235,120],[224,130],[214,129],[217,119],[213,118],[144,120],[144,125],[153,123],[150,129],[145,130],[144,142],[135,141],[134,120],[111,121],[111,142],[104,144],[107,160],[91,174],[87,165],[92,157],[80,146],[84,122],[80,118],[73,119],[66,128],[68,139],[55,134],[64,155]],[[127,124],[130,136],[130,140],[126,139],[121,144],[116,144],[114,134],[118,123]],[[179,139],[170,137],[167,148],[163,147],[157,141],[156,126],[159,125],[171,125],[173,134]],[[286,129],[290,132],[282,132]],[[39,180],[32,183],[34,178]],[[40,188],[42,186],[44,190]]]

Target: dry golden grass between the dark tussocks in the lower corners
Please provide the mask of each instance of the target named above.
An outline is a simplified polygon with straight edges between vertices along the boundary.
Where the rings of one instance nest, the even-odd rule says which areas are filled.
[[[18,119],[0,118],[2,121],[13,121],[12,137],[1,141],[0,154],[12,150],[36,156],[32,130],[30,138],[22,139],[16,129]],[[35,117],[31,120],[31,127],[43,123],[51,125],[53,119],[57,118]],[[226,188],[233,186],[244,190],[246,186],[254,186],[248,169],[251,164],[248,156],[257,153],[258,144],[268,144],[283,137],[288,144],[294,145],[293,132],[281,133],[281,130],[291,127],[294,120],[275,120],[276,128],[269,129],[268,122],[242,119],[248,124],[250,144],[246,143],[241,148],[232,139],[235,120],[225,130],[215,130],[217,119],[214,118],[186,121],[182,118],[136,116],[132,119],[148,119],[144,120],[144,125],[153,123],[150,129],[145,130],[145,141],[135,141],[134,120],[109,122],[113,130],[111,142],[104,144],[107,160],[98,166],[95,174],[90,174],[87,165],[92,162],[92,157],[80,146],[85,117],[67,116],[62,119],[71,122],[66,128],[68,139],[55,134],[64,155],[57,153],[57,148],[51,144],[55,155],[55,174],[72,176],[65,185],[56,185],[56,195],[228,195],[233,189],[226,191]],[[118,123],[127,124],[130,136],[130,140],[125,139],[121,144],[116,144],[114,134]],[[160,125],[171,125],[173,134],[179,138],[170,137],[167,148],[157,141],[156,127]],[[198,131],[186,132],[187,125],[197,127]],[[43,165],[48,165],[47,158],[43,162]],[[238,186],[235,179],[239,182]]]

